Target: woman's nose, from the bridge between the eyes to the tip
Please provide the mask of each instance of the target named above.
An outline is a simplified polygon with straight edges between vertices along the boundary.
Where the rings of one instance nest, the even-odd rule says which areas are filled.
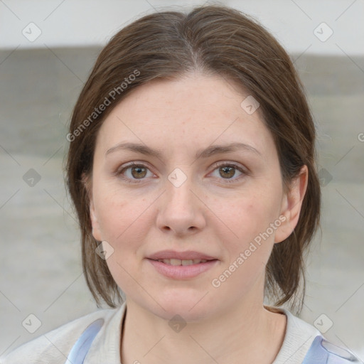
[[[193,190],[192,168],[175,168],[166,180],[166,193],[161,199],[157,224],[178,234],[201,229],[205,225],[203,208]]]

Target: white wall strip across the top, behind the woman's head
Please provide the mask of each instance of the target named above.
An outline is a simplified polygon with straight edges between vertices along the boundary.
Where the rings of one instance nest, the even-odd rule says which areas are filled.
[[[220,2],[255,16],[289,52],[364,54],[363,0]],[[213,1],[1,0],[0,48],[103,45],[119,28],[142,13],[153,12],[154,8],[204,3]],[[36,26],[28,26],[31,22]],[[328,27],[319,26],[323,22]],[[315,36],[315,28],[321,40]],[[331,30],[333,34],[326,40]],[[31,41],[23,36],[22,31]],[[37,32],[41,32],[38,38]]]

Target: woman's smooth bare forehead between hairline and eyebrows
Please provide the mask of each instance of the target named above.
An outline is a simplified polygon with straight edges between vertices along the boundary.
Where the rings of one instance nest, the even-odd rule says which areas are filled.
[[[187,152],[210,144],[243,142],[262,154],[272,154],[274,142],[259,109],[249,114],[242,107],[248,96],[218,76],[192,74],[151,81],[114,107],[100,128],[97,146],[105,152],[121,141],[133,141]]]

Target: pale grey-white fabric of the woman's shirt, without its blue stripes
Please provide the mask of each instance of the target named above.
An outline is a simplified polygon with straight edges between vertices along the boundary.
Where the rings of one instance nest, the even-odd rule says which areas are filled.
[[[117,309],[102,309],[65,323],[1,356],[0,364],[64,364],[85,328],[100,318],[105,323],[92,342],[84,364],[121,364],[120,336],[125,309],[126,302]],[[287,328],[282,347],[272,364],[301,364],[314,338],[321,334],[288,310],[278,310],[287,316]],[[135,360],[145,361],[142,356]]]

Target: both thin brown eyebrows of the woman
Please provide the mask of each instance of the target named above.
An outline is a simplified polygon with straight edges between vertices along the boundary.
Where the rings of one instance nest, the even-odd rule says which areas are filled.
[[[196,159],[208,158],[210,156],[214,156],[215,154],[229,153],[231,151],[237,151],[239,149],[242,149],[244,151],[249,151],[253,154],[257,154],[258,156],[262,157],[262,154],[260,154],[260,152],[254,148],[254,146],[245,143],[231,143],[226,145],[211,145],[208,146],[208,148],[206,149],[199,150],[196,153]],[[161,150],[151,149],[149,148],[149,146],[136,143],[119,143],[115,146],[112,146],[112,148],[108,149],[105,156],[120,150],[135,151],[137,153],[145,154],[147,156],[155,156],[158,159],[161,159],[162,156]]]

